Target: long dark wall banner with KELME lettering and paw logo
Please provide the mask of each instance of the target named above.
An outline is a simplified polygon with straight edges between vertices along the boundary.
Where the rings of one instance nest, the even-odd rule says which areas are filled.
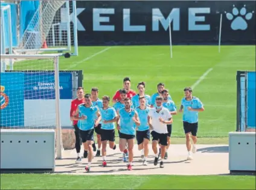
[[[255,44],[254,1],[77,1],[78,43]],[[72,15],[71,15],[72,16]],[[72,20],[74,21],[74,20]]]

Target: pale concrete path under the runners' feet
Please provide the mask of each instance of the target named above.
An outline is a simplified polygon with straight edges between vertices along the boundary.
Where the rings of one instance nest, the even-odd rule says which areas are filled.
[[[139,158],[140,152],[138,146],[134,147],[135,158],[133,159],[132,171],[127,171],[127,162],[122,161],[122,155],[118,149],[118,145],[116,150],[107,147],[107,167],[101,167],[101,157],[94,157],[89,173],[85,171],[88,159],[83,159],[83,164],[75,164],[75,158],[77,156],[75,149],[65,150],[63,152],[63,159],[56,159],[55,174],[229,174],[228,145],[197,145],[197,152],[193,155],[193,161],[186,160],[187,149],[184,144],[171,145],[168,150],[169,158],[164,160],[164,168],[159,168],[159,164],[156,166],[153,165],[153,150],[151,145],[149,147],[147,166],[142,165],[142,159]]]

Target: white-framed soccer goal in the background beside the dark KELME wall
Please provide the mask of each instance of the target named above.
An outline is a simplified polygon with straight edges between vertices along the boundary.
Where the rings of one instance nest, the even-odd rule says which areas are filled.
[[[14,54],[69,53],[78,55],[75,1],[34,1],[37,9],[28,19],[26,1],[18,3],[19,46]]]

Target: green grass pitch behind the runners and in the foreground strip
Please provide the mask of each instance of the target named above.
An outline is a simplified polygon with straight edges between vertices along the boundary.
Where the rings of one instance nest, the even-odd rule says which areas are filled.
[[[80,47],[79,56],[60,58],[60,70],[83,70],[83,87],[100,89],[100,97],[113,96],[129,76],[132,89],[146,82],[146,94],[156,92],[158,82],[181,105],[183,89],[193,89],[205,111],[199,113],[198,135],[209,142],[227,139],[236,123],[236,72],[255,70],[255,46],[106,46]],[[102,51],[102,52],[101,52]],[[104,51],[104,52],[103,52]],[[101,52],[101,53],[98,53]],[[95,55],[97,54],[97,55]],[[95,56],[94,56],[95,55]],[[33,69],[44,69],[43,65]],[[182,114],[173,117],[173,136],[184,136]],[[182,138],[183,139],[183,138]],[[200,138],[199,138],[200,139]],[[212,140],[214,139],[214,140]],[[200,141],[200,140],[199,140]],[[132,183],[131,183],[132,182]],[[1,174],[1,189],[255,189],[255,176],[70,176]]]

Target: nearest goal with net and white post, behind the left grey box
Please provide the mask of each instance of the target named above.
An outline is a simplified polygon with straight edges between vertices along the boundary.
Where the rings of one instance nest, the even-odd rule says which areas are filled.
[[[1,55],[1,65],[11,59],[13,70],[1,72],[1,129],[54,129],[61,158],[59,57]]]

